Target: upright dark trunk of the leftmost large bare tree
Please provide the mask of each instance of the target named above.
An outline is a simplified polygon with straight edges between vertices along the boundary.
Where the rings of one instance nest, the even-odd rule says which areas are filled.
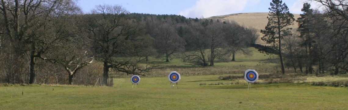
[[[35,74],[35,44],[32,45],[32,51],[30,52],[30,64],[29,64],[29,84],[35,84],[36,83],[36,74]]]

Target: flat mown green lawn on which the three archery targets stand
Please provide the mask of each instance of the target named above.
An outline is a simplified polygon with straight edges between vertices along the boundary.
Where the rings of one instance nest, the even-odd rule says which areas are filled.
[[[248,91],[242,80],[239,85],[208,85],[231,81],[218,77],[182,76],[179,89],[176,85],[169,89],[167,77],[141,78],[139,88],[132,88],[130,78],[114,79],[114,87],[0,86],[0,109],[348,109],[348,88],[344,87],[253,84]],[[207,85],[199,85],[203,83]]]

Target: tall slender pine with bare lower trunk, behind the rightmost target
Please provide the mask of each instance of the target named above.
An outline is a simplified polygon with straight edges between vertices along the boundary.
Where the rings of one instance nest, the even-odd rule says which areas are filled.
[[[294,15],[289,12],[289,8],[282,0],[272,0],[270,3],[268,23],[261,33],[264,34],[261,40],[269,44],[270,47],[277,51],[280,58],[280,65],[282,66],[282,73],[285,74],[283,56],[282,56],[282,39],[284,36],[291,35],[291,28],[295,21]],[[267,51],[266,51],[267,52]]]

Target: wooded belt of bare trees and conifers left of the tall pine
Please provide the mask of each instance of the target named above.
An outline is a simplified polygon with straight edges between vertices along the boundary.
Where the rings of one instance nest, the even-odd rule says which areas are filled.
[[[9,84],[107,85],[110,71],[157,69],[149,57],[213,66],[247,53],[258,38],[235,22],[129,13],[119,5],[83,14],[75,0],[1,0],[0,13],[0,83]]]

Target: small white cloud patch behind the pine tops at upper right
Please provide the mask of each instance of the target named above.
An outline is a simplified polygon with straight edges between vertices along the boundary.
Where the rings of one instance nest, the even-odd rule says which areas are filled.
[[[301,11],[302,7],[303,7],[303,3],[304,2],[308,2],[310,3],[310,8],[312,9],[319,9],[319,4],[317,2],[311,2],[308,0],[297,0],[290,8],[289,11],[290,13],[295,13],[295,14],[302,14],[303,12]]]

